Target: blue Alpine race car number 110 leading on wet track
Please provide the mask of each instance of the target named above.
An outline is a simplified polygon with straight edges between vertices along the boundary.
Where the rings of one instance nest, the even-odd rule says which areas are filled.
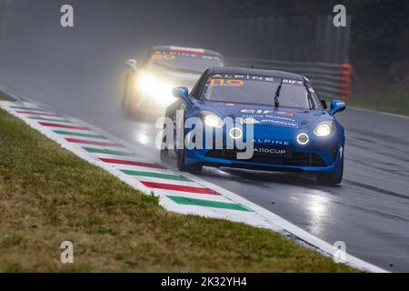
[[[192,92],[177,87],[174,95],[178,101],[165,113],[168,120],[173,120],[174,140],[166,140],[164,135],[166,146],[161,150],[161,158],[167,159],[175,152],[179,170],[198,173],[203,166],[226,166],[309,172],[316,174],[319,183],[341,183],[344,127],[334,114],[343,111],[345,103],[333,100],[331,108],[325,110],[324,100],[319,99],[303,75],[213,67],[199,78]],[[192,117],[201,120],[203,127],[190,125]],[[234,127],[227,128],[225,118],[234,119]],[[248,139],[250,128],[253,155],[238,158],[237,154],[244,149],[236,147],[235,140]],[[221,132],[220,138],[215,136],[217,130]],[[203,137],[209,132],[214,137],[212,146],[203,146]],[[196,143],[196,139],[203,145],[187,145],[189,140]],[[177,146],[178,141],[185,146]],[[234,146],[229,147],[232,141]]]

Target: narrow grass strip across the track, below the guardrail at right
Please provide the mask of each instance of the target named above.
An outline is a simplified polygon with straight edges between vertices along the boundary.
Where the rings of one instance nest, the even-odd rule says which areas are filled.
[[[359,108],[409,115],[409,91],[389,95],[353,95],[346,102]]]

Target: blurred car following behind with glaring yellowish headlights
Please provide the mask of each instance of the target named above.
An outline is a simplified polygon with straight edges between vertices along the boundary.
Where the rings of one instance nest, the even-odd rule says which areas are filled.
[[[205,69],[223,66],[224,57],[203,48],[157,45],[140,67],[135,59],[126,60],[125,65],[128,71],[122,102],[124,114],[161,114],[175,102],[174,87],[192,88]]]

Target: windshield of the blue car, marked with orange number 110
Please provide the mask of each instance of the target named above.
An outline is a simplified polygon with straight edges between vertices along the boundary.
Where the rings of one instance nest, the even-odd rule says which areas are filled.
[[[278,86],[279,106],[310,108],[303,81],[260,75],[214,74],[207,78],[202,98],[229,103],[274,105]]]

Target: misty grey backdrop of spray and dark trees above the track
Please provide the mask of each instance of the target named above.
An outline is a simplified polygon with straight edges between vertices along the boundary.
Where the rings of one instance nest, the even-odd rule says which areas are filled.
[[[60,25],[64,4],[74,6],[75,27]],[[347,27],[332,25],[337,4],[346,6]],[[152,45],[185,45],[246,65],[257,58],[351,62],[354,92],[409,84],[405,0],[0,0],[0,25],[0,70],[21,82],[53,75],[119,86],[125,59],[142,61]]]

